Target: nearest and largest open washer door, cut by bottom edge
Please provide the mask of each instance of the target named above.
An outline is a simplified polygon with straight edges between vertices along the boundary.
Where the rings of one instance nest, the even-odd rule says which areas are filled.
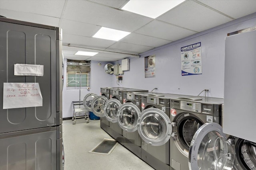
[[[231,170],[236,153],[218,123],[205,123],[194,135],[188,154],[190,170]]]

